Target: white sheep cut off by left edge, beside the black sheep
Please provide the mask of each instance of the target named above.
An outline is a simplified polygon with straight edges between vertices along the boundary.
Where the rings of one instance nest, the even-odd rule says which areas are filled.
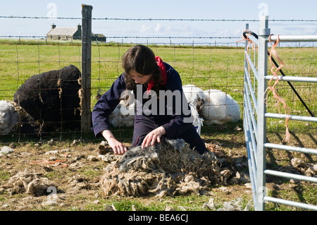
[[[0,101],[0,135],[14,133],[18,127],[19,114],[15,110],[14,102]]]

